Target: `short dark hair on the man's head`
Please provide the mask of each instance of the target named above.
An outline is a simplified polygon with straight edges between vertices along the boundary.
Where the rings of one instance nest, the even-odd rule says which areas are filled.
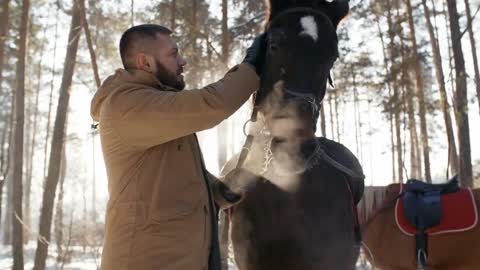
[[[129,28],[120,38],[120,57],[122,58],[123,67],[128,67],[127,56],[135,42],[143,40],[154,41],[157,38],[157,34],[170,35],[171,33],[170,29],[157,24],[141,24]]]

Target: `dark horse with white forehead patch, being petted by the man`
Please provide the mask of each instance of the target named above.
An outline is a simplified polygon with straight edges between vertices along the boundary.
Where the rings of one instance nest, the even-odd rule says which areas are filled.
[[[348,1],[270,1],[261,87],[240,161],[225,183],[240,270],[352,270],[363,174],[343,145],[315,137]],[[238,162],[238,163],[237,163]]]

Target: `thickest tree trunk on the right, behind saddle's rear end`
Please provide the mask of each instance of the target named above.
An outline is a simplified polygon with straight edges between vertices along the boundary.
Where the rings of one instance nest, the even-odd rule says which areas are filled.
[[[453,59],[455,61],[455,100],[457,134],[460,152],[460,182],[473,186],[472,158],[470,152],[470,127],[468,125],[467,73],[462,51],[462,39],[457,12],[457,1],[447,0],[450,31],[452,32]]]

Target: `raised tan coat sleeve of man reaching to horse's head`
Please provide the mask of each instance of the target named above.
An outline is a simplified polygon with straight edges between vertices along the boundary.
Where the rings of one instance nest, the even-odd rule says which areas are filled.
[[[220,81],[201,89],[124,91],[112,97],[109,105],[119,115],[109,125],[125,144],[152,147],[216,126],[258,87],[259,78],[252,67],[241,64]]]

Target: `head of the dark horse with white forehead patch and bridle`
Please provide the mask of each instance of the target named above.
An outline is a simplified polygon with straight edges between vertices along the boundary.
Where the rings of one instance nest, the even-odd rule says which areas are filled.
[[[348,0],[267,2],[267,55],[256,105],[275,138],[312,138]]]

